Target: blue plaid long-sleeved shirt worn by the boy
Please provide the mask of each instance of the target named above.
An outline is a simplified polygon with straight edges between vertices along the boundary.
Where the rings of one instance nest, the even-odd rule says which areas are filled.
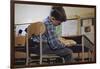
[[[58,37],[55,34],[55,26],[49,20],[49,17],[44,20],[44,24],[46,26],[46,32],[42,35],[42,39],[47,41],[48,46],[53,50],[64,48],[64,44],[58,40]],[[33,41],[39,41],[39,36],[35,36],[32,39]]]

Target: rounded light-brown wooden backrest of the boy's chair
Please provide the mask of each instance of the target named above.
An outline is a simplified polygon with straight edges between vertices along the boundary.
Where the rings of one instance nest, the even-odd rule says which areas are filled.
[[[35,22],[28,26],[27,33],[28,38],[30,38],[32,35],[40,35],[45,32],[45,25],[42,22]]]

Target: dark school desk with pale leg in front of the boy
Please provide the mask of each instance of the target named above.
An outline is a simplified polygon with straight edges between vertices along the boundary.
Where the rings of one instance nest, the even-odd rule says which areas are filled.
[[[84,53],[87,52],[88,60],[90,61],[90,59],[91,59],[90,50],[91,50],[91,47],[93,46],[93,44],[91,45],[88,38],[86,38],[84,35],[69,36],[69,37],[63,37],[63,38],[72,39],[77,42],[77,44],[75,46],[68,47],[71,50],[73,50],[73,53],[78,53],[78,59],[76,59],[76,60],[80,60],[80,58],[81,58],[82,62],[84,62],[85,61]]]

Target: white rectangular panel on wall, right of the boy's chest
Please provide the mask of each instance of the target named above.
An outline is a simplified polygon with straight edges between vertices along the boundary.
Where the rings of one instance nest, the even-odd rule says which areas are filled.
[[[78,20],[68,20],[62,23],[62,36],[78,35]]]

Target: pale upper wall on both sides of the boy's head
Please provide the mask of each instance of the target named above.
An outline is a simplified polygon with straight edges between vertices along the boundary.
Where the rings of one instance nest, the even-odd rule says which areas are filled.
[[[42,21],[50,13],[51,6],[44,5],[29,5],[16,4],[15,5],[15,24],[32,23],[35,21]],[[80,7],[65,7],[65,12],[68,19],[77,18],[77,16],[94,17],[94,8],[80,8]],[[87,10],[87,11],[86,11]]]

